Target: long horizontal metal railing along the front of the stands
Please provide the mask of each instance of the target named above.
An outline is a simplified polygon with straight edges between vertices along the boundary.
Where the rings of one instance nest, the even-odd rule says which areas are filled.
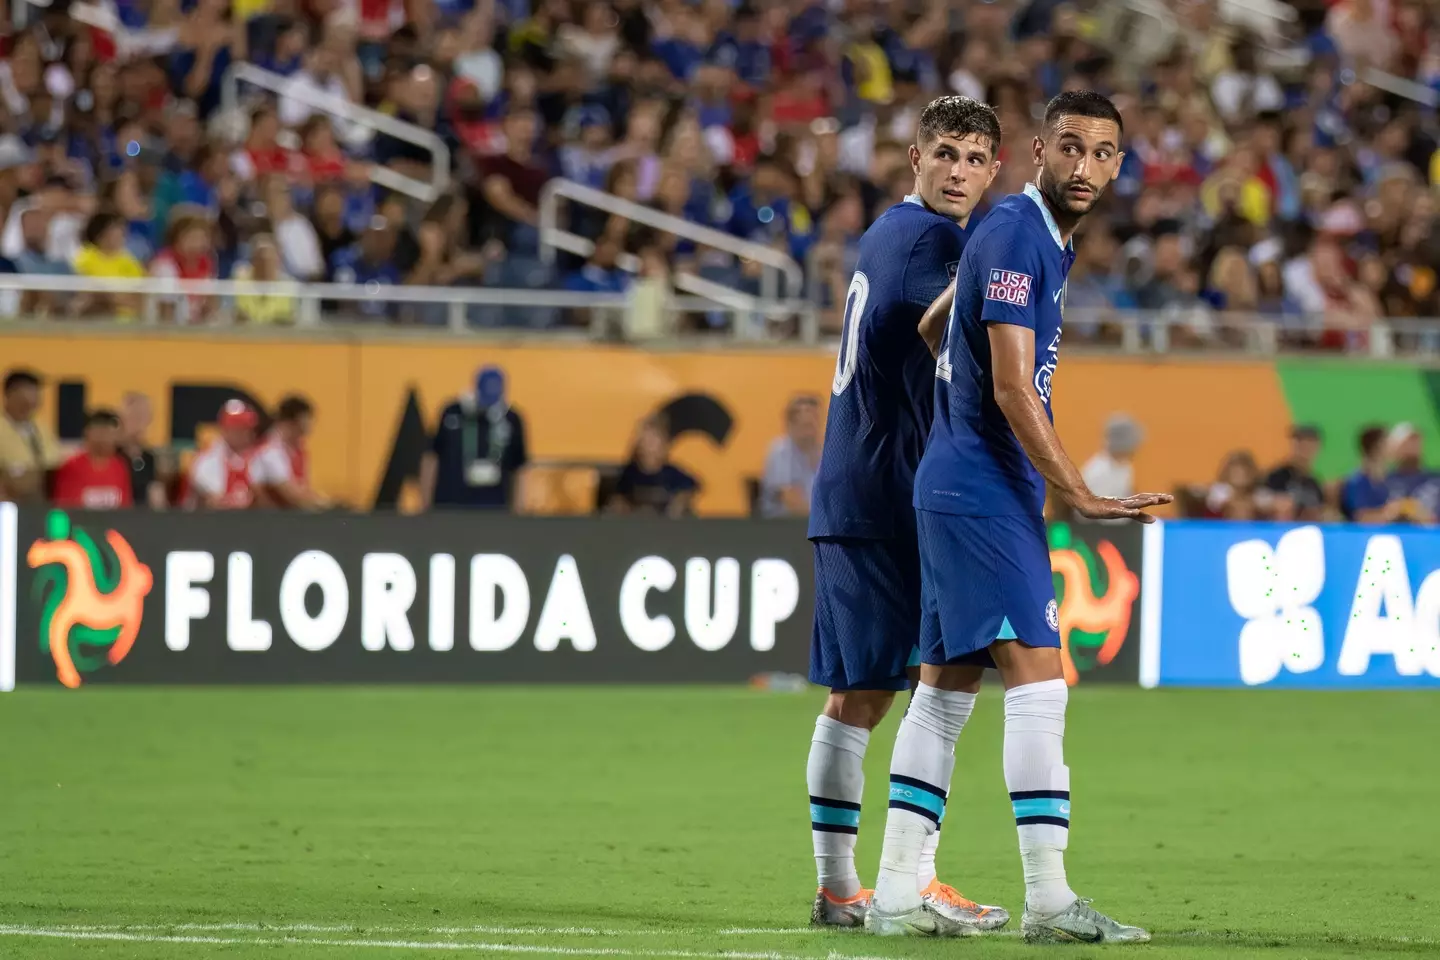
[[[49,295],[43,307],[19,301]],[[580,335],[613,338],[616,320],[635,308],[632,294],[596,294],[556,289],[508,289],[497,286],[395,286],[382,284],[298,284],[261,281],[102,279],[33,273],[0,273],[0,330],[4,321],[69,320],[75,298],[104,295],[111,304],[102,314],[84,314],[88,328],[295,328],[369,331],[428,328],[435,332],[477,335],[492,328],[534,337]],[[117,298],[132,298],[118,304]],[[213,301],[196,307],[199,301]],[[17,305],[22,308],[17,309]],[[268,311],[265,321],[246,324],[255,307]],[[384,309],[379,309],[379,308]],[[367,309],[369,308],[369,309]],[[793,301],[759,302],[768,315],[793,314]],[[710,298],[672,296],[664,304],[671,318],[683,314],[723,314],[742,324],[750,304],[730,307]],[[409,312],[408,312],[409,311]],[[477,311],[491,311],[490,322]],[[564,328],[540,328],[526,318],[536,311],[567,311]],[[818,317],[819,311],[814,311]],[[1123,354],[1233,353],[1274,356],[1284,351],[1323,350],[1362,357],[1440,357],[1440,318],[1382,318],[1364,327],[1326,325],[1323,317],[1276,317],[1215,311],[1207,307],[1161,311],[1068,307],[1064,311],[1067,350],[1103,350]],[[200,322],[193,322],[196,317]],[[498,322],[497,321],[498,317]],[[187,322],[192,321],[192,322]],[[579,322],[576,322],[579,321]],[[624,324],[619,324],[624,328]],[[674,330],[671,325],[670,330]],[[649,340],[675,340],[660,332]],[[753,343],[793,344],[789,337]],[[696,337],[716,343],[716,335]],[[818,337],[816,337],[818,340]],[[828,338],[827,343],[832,343]]]

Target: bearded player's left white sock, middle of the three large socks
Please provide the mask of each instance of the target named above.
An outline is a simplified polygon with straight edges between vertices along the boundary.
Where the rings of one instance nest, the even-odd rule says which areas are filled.
[[[945,816],[955,771],[955,741],[975,708],[975,694],[920,684],[900,721],[890,760],[890,810],[874,902],[887,914],[920,905],[920,853]]]

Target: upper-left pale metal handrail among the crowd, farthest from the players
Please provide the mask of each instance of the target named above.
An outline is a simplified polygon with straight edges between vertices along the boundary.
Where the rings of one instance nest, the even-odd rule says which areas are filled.
[[[449,187],[449,147],[445,145],[445,141],[435,131],[408,124],[403,119],[396,119],[369,107],[359,107],[324,91],[298,86],[291,78],[261,69],[253,63],[235,63],[225,72],[225,79],[220,83],[220,104],[226,114],[236,115],[239,112],[242,82],[259,86],[282,99],[297,101],[311,109],[330,114],[348,124],[357,124],[387,137],[403,140],[431,153],[429,183],[374,164],[370,170],[370,178],[382,187],[415,197],[422,203],[433,203]]]

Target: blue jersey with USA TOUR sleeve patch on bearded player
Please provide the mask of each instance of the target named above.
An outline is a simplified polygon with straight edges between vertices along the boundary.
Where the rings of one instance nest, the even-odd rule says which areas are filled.
[[[989,325],[1035,331],[1035,391],[1050,410],[1066,275],[1074,248],[1040,190],[1001,200],[960,258],[955,307],[935,371],[935,425],[914,479],[914,505],[962,517],[1044,512],[1045,481],[995,403]]]

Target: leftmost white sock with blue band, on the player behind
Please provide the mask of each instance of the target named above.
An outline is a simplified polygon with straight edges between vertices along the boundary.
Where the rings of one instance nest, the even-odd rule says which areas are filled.
[[[860,892],[855,835],[865,793],[870,731],[821,715],[815,720],[805,782],[811,794],[811,839],[819,885],[841,900]]]

